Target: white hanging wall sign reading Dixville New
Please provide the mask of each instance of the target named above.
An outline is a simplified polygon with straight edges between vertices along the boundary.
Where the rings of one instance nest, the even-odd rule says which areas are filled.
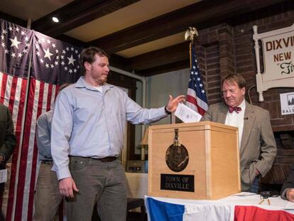
[[[263,91],[272,87],[294,87],[294,24],[266,33],[257,33],[254,29],[256,53],[256,87],[259,102],[263,102]],[[263,51],[263,67],[261,73],[259,45]]]

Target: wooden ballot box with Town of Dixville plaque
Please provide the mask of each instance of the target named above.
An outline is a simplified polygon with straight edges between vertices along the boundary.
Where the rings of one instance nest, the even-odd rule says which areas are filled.
[[[216,200],[241,191],[238,129],[214,122],[149,126],[148,195]]]

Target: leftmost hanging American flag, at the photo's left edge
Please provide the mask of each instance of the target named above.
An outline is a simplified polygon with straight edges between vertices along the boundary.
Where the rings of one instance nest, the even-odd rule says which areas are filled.
[[[0,102],[9,107],[11,111],[17,140],[11,163],[7,165],[11,168],[9,170],[10,182],[6,183],[6,191],[2,196],[1,206],[4,215],[6,214],[6,220],[13,220],[11,215],[13,208],[16,206],[33,31],[4,20],[0,21]]]

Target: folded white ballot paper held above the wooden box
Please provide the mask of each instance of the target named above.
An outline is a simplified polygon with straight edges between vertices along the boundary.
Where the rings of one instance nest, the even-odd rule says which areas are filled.
[[[178,108],[175,110],[175,117],[178,117],[184,123],[191,123],[200,122],[202,115],[198,114],[190,107],[187,107],[185,104],[180,103],[178,104]]]

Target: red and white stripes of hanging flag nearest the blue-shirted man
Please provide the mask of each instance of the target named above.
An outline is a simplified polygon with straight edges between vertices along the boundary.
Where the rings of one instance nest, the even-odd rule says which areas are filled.
[[[53,107],[56,86],[31,78],[28,109],[24,128],[21,165],[18,180],[18,198],[14,220],[32,220],[33,192],[37,178],[38,149],[36,146],[36,122],[40,114]],[[49,108],[49,109],[48,109]],[[19,217],[19,218],[18,218]]]

